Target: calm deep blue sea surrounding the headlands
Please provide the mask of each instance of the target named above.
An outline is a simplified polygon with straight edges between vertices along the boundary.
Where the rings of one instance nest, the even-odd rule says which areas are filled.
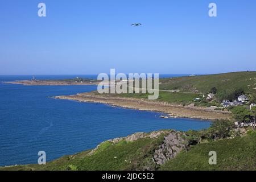
[[[162,75],[174,77],[177,75]],[[186,76],[186,75],[178,75]],[[5,81],[26,80],[32,76],[0,76],[0,166],[38,162],[38,151],[46,151],[47,161],[96,147],[104,140],[135,132],[175,129],[200,130],[209,121],[161,119],[160,113],[112,107],[52,96],[96,90],[96,86],[23,86]],[[36,76],[61,79],[95,75]]]

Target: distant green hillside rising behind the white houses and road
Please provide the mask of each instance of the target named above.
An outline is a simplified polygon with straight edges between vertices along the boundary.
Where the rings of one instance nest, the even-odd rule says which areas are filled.
[[[256,72],[233,72],[217,75],[163,78],[160,79],[160,82],[162,84],[159,87],[164,90],[209,93],[211,88],[216,87],[218,90],[242,88],[245,92],[255,92]]]

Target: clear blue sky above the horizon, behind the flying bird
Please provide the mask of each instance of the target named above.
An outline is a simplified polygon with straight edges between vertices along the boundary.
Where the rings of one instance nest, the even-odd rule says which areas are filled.
[[[0,65],[0,75],[255,71],[256,1],[1,0]]]

